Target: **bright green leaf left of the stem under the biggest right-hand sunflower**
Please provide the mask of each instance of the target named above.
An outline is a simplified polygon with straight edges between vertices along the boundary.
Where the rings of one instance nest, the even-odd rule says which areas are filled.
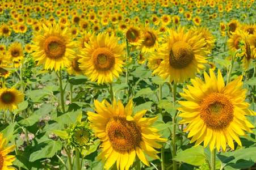
[[[192,148],[188,148],[183,152],[179,152],[177,156],[175,156],[174,160],[178,162],[186,162],[191,165],[200,166],[202,165],[207,157],[204,154],[203,146],[196,146]]]

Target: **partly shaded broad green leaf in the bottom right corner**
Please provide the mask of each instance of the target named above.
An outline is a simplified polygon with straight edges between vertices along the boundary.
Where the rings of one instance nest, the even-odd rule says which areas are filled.
[[[242,148],[233,152],[217,154],[221,160],[221,167],[230,166],[236,169],[249,168],[256,162],[256,150],[254,148]]]

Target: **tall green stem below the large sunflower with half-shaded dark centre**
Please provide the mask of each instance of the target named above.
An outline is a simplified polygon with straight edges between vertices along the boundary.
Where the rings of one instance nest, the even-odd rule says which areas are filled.
[[[176,101],[176,90],[177,90],[177,82],[173,83],[173,107]],[[173,158],[176,156],[176,113],[173,117]],[[177,162],[173,160],[173,169],[177,169]]]

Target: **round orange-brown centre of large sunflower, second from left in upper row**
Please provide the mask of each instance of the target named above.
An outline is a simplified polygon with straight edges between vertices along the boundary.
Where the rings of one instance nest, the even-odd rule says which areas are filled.
[[[115,65],[115,56],[108,48],[97,48],[92,58],[96,70],[110,70]]]

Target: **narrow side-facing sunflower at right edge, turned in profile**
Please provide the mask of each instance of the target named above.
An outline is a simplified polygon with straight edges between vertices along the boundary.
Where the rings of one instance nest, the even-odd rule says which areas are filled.
[[[247,36],[249,35],[248,32],[240,31],[241,40],[239,42],[240,45],[240,53],[238,54],[239,57],[243,57],[241,60],[241,65],[243,65],[243,69],[246,71],[248,70],[248,67],[251,63],[251,49],[250,44],[247,39]]]

